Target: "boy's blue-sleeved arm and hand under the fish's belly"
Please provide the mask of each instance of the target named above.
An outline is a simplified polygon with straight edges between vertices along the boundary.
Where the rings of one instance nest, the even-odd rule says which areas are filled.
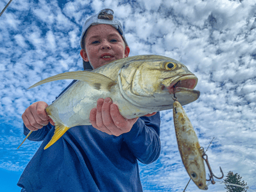
[[[159,112],[125,120],[118,106],[107,97],[97,101],[96,109],[90,112],[90,122],[94,128],[109,135],[123,135],[133,155],[144,164],[152,163],[160,155]]]

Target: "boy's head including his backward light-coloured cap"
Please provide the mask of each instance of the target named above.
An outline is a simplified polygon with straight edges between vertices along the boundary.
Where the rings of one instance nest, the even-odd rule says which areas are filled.
[[[113,14],[112,9],[103,9],[85,21],[80,51],[84,69],[91,66],[98,68],[108,62],[128,57],[129,47],[122,24],[113,19]]]

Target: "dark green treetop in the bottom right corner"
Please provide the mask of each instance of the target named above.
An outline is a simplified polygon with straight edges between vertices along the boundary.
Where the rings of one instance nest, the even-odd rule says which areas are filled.
[[[244,183],[244,181],[241,181],[241,178],[242,177],[240,175],[238,175],[238,173],[234,174],[232,171],[229,171],[229,173],[228,173],[228,175],[226,175],[226,179],[224,179],[224,181],[226,183],[230,183],[230,184],[246,186],[247,183]],[[234,185],[226,185],[225,189],[227,189],[227,192],[246,192],[247,191],[244,188],[241,188],[240,186],[234,186]]]

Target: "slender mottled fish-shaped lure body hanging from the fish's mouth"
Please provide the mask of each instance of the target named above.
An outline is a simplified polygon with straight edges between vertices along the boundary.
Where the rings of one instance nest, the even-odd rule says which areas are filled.
[[[207,190],[205,165],[202,158],[204,151],[200,147],[189,117],[177,99],[173,102],[173,122],[183,165],[197,187]]]

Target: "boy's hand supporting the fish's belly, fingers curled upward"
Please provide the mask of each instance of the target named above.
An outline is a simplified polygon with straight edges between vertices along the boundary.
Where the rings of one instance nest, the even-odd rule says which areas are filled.
[[[156,112],[145,116],[152,116],[154,114]],[[98,99],[97,107],[90,111],[89,118],[94,128],[115,136],[129,132],[133,124],[138,120],[138,117],[129,120],[124,119],[118,110],[118,106],[113,104],[109,97],[105,100]]]

